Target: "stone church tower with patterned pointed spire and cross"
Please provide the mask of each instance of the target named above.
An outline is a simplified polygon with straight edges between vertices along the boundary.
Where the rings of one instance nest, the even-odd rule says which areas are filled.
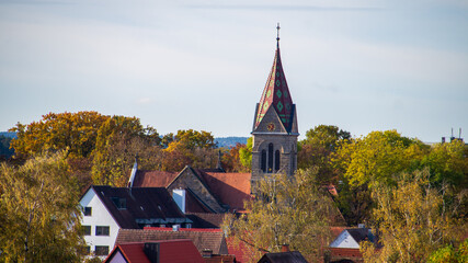
[[[297,168],[296,105],[290,98],[279,56],[279,24],[276,54],[252,128],[252,186],[272,173],[293,175]]]

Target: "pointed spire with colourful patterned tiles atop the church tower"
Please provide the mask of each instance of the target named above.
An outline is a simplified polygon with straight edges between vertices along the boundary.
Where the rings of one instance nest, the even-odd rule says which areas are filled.
[[[286,77],[284,76],[279,55],[279,28],[278,23],[276,26],[275,58],[272,70],[270,71],[269,80],[266,81],[260,99],[254,122],[254,130],[259,127],[270,107],[273,107],[276,111],[276,114],[287,133],[292,132],[294,123],[294,104],[287,87]]]

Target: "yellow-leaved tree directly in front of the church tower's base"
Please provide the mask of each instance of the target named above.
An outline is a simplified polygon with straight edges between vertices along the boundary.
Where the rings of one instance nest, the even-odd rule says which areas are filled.
[[[246,203],[249,214],[228,217],[224,228],[246,243],[251,262],[262,252],[279,252],[282,244],[316,262],[330,242],[336,216],[332,199],[317,181],[317,169],[299,170],[294,178],[274,174],[260,181],[255,198]]]

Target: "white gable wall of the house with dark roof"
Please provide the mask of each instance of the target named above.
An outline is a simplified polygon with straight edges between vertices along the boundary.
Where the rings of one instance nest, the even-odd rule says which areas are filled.
[[[90,247],[91,253],[94,252],[95,245],[107,245],[109,253],[114,248],[118,233],[118,225],[105,208],[104,204],[98,197],[93,188],[90,188],[80,201],[82,207],[92,207],[91,216],[83,216],[81,226],[91,226],[91,236],[84,236],[87,245]],[[109,226],[109,236],[95,236],[96,226]]]

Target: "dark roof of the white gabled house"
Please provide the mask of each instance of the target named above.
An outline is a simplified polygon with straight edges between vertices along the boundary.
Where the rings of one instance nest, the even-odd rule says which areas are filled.
[[[121,228],[136,229],[151,224],[192,222],[179,209],[164,187],[111,187],[92,185],[99,198]],[[114,199],[125,199],[118,208]]]

